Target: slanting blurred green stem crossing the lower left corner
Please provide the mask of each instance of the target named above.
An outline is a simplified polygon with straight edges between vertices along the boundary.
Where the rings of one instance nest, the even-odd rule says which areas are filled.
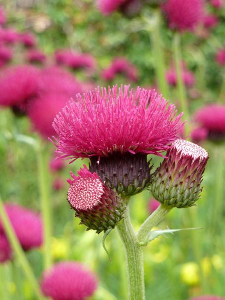
[[[21,245],[17,239],[17,236],[15,235],[14,229],[11,226],[10,220],[5,211],[1,197],[0,197],[0,217],[1,217],[1,221],[3,223],[4,230],[5,230],[7,237],[11,243],[11,246],[14,250],[14,253],[17,256],[18,261],[20,262],[25,275],[27,276],[27,280],[30,282],[30,285],[32,286],[32,289],[33,289],[34,293],[36,294],[36,297],[38,298],[38,300],[42,300],[43,296],[41,294],[39,284],[36,281],[36,278],[35,278],[33,271],[29,265],[29,262],[27,261],[24,251],[22,250]]]

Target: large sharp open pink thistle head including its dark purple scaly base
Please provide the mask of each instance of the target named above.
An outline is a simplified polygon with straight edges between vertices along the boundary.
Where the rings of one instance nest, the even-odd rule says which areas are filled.
[[[77,95],[56,116],[54,143],[62,157],[90,158],[91,172],[119,193],[133,194],[149,185],[147,154],[161,156],[169,148],[181,116],[154,91],[98,88]]]

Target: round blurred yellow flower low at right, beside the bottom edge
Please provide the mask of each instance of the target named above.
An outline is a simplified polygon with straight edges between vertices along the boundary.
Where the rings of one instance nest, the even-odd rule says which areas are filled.
[[[197,285],[200,281],[199,266],[195,262],[187,262],[182,265],[181,279],[188,285]]]

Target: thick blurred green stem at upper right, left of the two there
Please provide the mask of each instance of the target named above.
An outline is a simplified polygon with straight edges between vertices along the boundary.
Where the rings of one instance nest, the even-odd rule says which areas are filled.
[[[168,84],[165,77],[165,61],[164,53],[162,49],[162,38],[160,32],[161,14],[159,10],[155,10],[154,13],[154,27],[151,31],[151,41],[153,46],[153,55],[155,63],[155,72],[157,77],[157,83],[160,92],[168,99]]]

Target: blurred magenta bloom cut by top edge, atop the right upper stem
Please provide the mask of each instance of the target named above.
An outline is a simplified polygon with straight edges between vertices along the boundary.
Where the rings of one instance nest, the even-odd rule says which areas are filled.
[[[166,0],[162,9],[169,27],[178,31],[192,31],[203,17],[203,0]]]

